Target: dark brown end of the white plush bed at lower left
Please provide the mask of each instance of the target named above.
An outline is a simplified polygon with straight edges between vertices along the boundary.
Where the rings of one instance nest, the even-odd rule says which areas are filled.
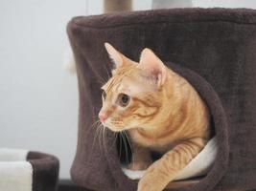
[[[33,167],[33,191],[57,190],[58,159],[39,152],[29,152],[27,160]]]

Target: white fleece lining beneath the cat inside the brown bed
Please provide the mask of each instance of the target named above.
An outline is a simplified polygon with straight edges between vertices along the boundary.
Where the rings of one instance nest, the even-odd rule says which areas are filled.
[[[175,180],[185,180],[205,175],[213,165],[216,154],[216,138],[211,138],[200,153],[177,174]],[[122,170],[131,180],[141,179],[146,173],[146,170],[129,170],[126,166],[123,166]]]

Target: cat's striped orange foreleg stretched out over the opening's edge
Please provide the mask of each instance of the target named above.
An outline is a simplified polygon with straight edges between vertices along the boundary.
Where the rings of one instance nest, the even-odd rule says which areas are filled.
[[[203,138],[192,138],[177,144],[174,149],[151,164],[138,183],[138,191],[163,190],[175,179],[175,175],[198,155],[205,144]]]

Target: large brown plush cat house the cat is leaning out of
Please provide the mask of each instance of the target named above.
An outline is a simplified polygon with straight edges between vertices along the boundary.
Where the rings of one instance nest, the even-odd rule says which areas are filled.
[[[104,42],[133,60],[151,48],[184,76],[211,111],[218,153],[198,183],[176,190],[256,188],[256,11],[177,9],[81,16],[68,25],[80,90],[79,139],[71,175],[95,190],[136,190],[123,173],[115,137],[95,141],[100,87],[110,74]],[[176,64],[172,64],[171,62]]]

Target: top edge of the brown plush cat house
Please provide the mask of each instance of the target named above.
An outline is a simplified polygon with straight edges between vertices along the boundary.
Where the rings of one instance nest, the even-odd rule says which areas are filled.
[[[170,11],[172,10],[172,11]],[[207,17],[199,17],[198,12],[207,14]],[[190,14],[189,17],[181,17],[183,14]],[[165,23],[165,22],[219,22],[220,19],[223,22],[232,23],[246,23],[255,24],[255,17],[248,16],[247,13],[256,14],[256,11],[248,8],[174,8],[174,9],[162,9],[162,10],[146,10],[146,11],[125,11],[125,12],[111,12],[98,15],[89,16],[75,16],[71,19],[70,23],[76,24],[83,28],[90,29],[105,29],[116,28],[124,25],[136,25],[138,23]],[[148,19],[144,21],[144,16],[147,14]],[[166,16],[169,14],[169,16]],[[155,17],[155,15],[162,17]],[[178,15],[178,16],[174,16]],[[113,17],[119,17],[119,20],[112,19]],[[130,20],[136,18],[136,22],[130,23]],[[105,22],[107,19],[107,22]],[[103,21],[102,21],[103,20]]]

